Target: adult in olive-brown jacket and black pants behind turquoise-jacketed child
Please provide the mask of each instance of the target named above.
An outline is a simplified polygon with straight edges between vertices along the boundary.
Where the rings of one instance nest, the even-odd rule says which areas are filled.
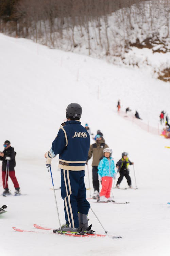
[[[105,143],[103,138],[103,133],[98,132],[96,135],[96,142],[90,145],[90,149],[88,152],[87,161],[93,156],[92,161],[92,174],[93,174],[93,186],[94,186],[94,194],[92,197],[99,196],[99,177],[98,177],[98,165],[100,158],[103,157],[103,150],[108,148],[108,145]]]

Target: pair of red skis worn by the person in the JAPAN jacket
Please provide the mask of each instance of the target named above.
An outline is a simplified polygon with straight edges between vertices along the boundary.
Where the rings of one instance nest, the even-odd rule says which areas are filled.
[[[37,229],[41,229],[41,230],[52,230],[52,228],[44,228],[44,227],[41,227],[37,224],[34,224],[33,225],[35,228]],[[40,231],[31,231],[31,230],[23,230],[23,229],[19,229],[19,228],[16,228],[16,227],[12,227],[15,231],[17,232],[32,232],[32,233],[43,233],[43,232],[40,232]],[[55,232],[54,232],[55,233]],[[102,235],[102,234],[79,234],[79,233],[72,233],[72,232],[57,232],[56,231],[56,234],[60,234],[60,235],[67,235],[67,236],[73,236],[73,237],[110,237],[110,238],[122,238],[121,236],[114,236],[114,235]]]

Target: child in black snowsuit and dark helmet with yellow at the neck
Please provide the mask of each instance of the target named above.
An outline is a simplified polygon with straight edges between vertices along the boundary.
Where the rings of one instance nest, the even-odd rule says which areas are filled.
[[[118,178],[118,181],[116,183],[116,187],[120,188],[120,183],[123,180],[123,177],[128,181],[129,188],[132,188],[131,185],[131,177],[129,176],[129,170],[128,165],[132,165],[133,163],[128,159],[128,153],[122,153],[122,158],[117,162],[116,167],[118,168],[118,171],[120,173],[120,177]]]

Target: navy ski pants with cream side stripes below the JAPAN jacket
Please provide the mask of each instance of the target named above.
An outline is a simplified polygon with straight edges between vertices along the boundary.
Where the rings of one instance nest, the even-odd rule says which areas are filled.
[[[88,214],[90,204],[86,200],[85,171],[61,169],[61,196],[64,200],[66,224],[79,227],[78,212]]]

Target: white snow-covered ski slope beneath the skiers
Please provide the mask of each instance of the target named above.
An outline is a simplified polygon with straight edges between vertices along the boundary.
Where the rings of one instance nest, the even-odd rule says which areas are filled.
[[[141,122],[149,121],[157,127],[160,112],[170,109],[169,96],[169,83],[152,78],[149,72],[0,34],[1,151],[4,141],[10,140],[17,152],[16,177],[22,194],[27,194],[0,197],[0,206],[7,205],[7,213],[0,215],[0,255],[169,255],[170,149],[165,148],[170,146],[169,140],[143,131],[119,116],[116,109],[120,99],[122,111],[129,106],[133,113],[139,112]],[[12,229],[39,231],[33,224],[59,227],[44,153],[51,148],[71,102],[83,108],[82,125],[87,122],[94,134],[98,129],[103,132],[115,162],[127,151],[135,163],[138,190],[112,190],[117,202],[129,204],[91,203],[108,234],[121,235],[122,239],[66,237],[48,230],[19,233]],[[91,160],[88,166],[92,187]],[[58,158],[52,161],[51,169],[54,186],[60,187]],[[133,166],[130,176],[135,187]],[[87,169],[85,183],[88,188]],[[14,193],[11,181],[9,186]],[[125,179],[121,187],[127,187]],[[89,195],[87,190],[87,198]],[[56,198],[64,223],[60,190],[56,190]],[[91,210],[89,219],[93,229],[104,234]]]

